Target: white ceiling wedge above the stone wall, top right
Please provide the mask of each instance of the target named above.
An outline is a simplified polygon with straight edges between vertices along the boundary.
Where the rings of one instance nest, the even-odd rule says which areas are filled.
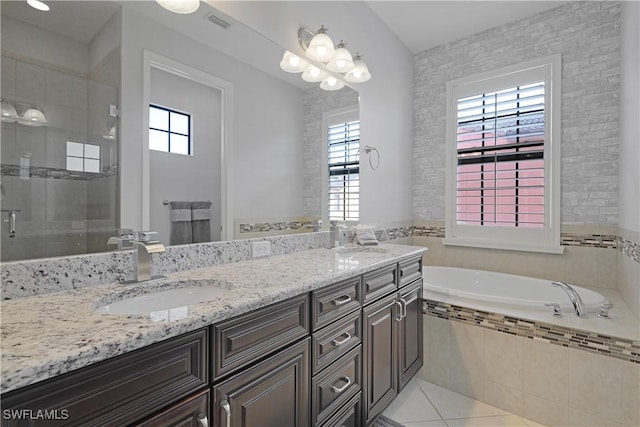
[[[367,1],[414,53],[554,9],[567,1]]]

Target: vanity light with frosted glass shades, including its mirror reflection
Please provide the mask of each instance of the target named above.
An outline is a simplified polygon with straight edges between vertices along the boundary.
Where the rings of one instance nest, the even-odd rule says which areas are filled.
[[[339,90],[347,82],[362,83],[371,78],[362,55],[353,57],[342,40],[334,46],[324,25],[316,33],[300,28],[298,43],[303,55],[287,50],[280,61],[280,68],[287,73],[302,73],[302,80],[320,82],[324,90]]]

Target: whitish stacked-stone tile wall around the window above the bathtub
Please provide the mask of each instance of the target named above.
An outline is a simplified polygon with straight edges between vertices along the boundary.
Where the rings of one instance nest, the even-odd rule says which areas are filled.
[[[562,223],[618,222],[620,2],[571,2],[415,56],[413,216],[445,217],[446,82],[562,55]]]

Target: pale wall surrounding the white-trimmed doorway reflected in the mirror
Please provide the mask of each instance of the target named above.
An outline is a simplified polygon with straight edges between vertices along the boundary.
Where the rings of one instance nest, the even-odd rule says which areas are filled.
[[[122,28],[122,226],[141,227],[144,49],[233,84],[234,216],[301,215],[302,92],[127,7]]]

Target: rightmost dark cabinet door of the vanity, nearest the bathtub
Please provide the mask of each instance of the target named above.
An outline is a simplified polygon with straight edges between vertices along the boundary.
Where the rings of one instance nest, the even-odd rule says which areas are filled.
[[[400,303],[402,320],[398,323],[398,379],[399,390],[402,390],[422,366],[422,279],[400,290]]]

